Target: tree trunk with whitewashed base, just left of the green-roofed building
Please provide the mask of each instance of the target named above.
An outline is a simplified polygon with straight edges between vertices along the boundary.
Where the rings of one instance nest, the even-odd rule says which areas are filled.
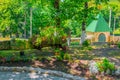
[[[81,40],[80,40],[80,44],[82,44],[85,41],[86,38],[86,19],[87,19],[87,10],[88,10],[88,2],[86,1],[84,4],[84,18],[83,18],[83,22],[82,22],[82,34],[81,34]]]

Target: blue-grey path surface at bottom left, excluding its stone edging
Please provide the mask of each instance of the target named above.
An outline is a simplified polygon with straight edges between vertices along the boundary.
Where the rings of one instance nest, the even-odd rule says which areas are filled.
[[[62,77],[36,73],[0,72],[0,80],[68,80]]]

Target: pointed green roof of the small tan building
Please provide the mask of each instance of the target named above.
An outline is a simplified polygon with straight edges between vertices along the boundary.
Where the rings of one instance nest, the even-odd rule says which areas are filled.
[[[96,19],[93,20],[86,28],[89,32],[110,32],[107,22],[101,14],[98,14]]]

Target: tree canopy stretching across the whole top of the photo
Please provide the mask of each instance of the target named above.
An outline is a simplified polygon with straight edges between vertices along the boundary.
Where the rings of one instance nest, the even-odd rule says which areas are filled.
[[[88,6],[86,9],[85,3]],[[82,22],[85,21],[88,25],[99,12],[102,12],[109,22],[109,7],[112,9],[112,20],[116,17],[116,25],[119,27],[119,2],[108,2],[108,0],[0,0],[0,32],[2,35],[11,37],[16,35],[28,38],[31,31],[30,26],[32,26],[33,35],[39,34],[44,27],[60,26],[66,32],[71,30],[73,35],[80,36]],[[113,25],[111,26],[113,27]]]

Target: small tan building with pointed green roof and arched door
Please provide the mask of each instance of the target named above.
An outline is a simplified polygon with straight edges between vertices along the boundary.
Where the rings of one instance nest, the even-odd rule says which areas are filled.
[[[87,36],[92,36],[92,42],[109,42],[111,29],[103,18],[102,14],[98,14],[86,28]]]

